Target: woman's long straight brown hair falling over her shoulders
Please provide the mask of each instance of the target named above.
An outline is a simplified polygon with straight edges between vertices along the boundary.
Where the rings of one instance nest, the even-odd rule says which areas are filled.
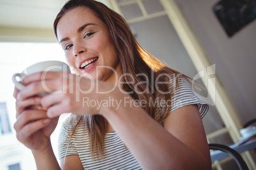
[[[163,108],[162,115],[157,115],[157,105],[150,105],[150,100],[155,101],[160,96],[163,100],[170,99],[173,95],[171,91],[165,95],[162,95],[153,86],[156,77],[158,81],[165,82],[169,80],[167,75],[182,75],[169,67],[166,67],[164,63],[160,62],[157,58],[150,55],[145,49],[139,46],[135,37],[129,28],[124,18],[113,10],[110,10],[103,3],[99,3],[93,0],[71,0],[66,3],[60,10],[59,14],[54,21],[54,33],[57,37],[57,24],[68,11],[73,10],[80,6],[86,6],[92,10],[94,15],[99,17],[108,27],[110,32],[111,41],[117,56],[119,57],[122,67],[122,73],[124,74],[125,82],[132,82],[134,84],[124,84],[125,91],[131,93],[132,98],[135,100],[146,101],[144,105],[145,111],[156,121],[161,122],[166,114],[169,112],[168,107]],[[128,76],[132,75],[131,76]],[[143,74],[143,76],[138,76]],[[145,76],[144,76],[145,75]],[[161,76],[159,76],[161,75]],[[185,76],[185,75],[184,75]],[[147,77],[147,78],[146,78]],[[185,76],[187,77],[187,76]],[[146,83],[140,83],[146,82]],[[153,84],[152,84],[153,82]],[[136,85],[135,85],[136,84]],[[147,86],[149,85],[149,86]],[[158,89],[161,91],[169,91],[168,84],[158,84]],[[146,93],[139,93],[139,91],[146,91]],[[172,90],[174,91],[174,89]],[[97,158],[104,156],[104,135],[106,134],[106,127],[108,122],[101,115],[83,115],[80,118],[83,121],[85,127],[89,132],[90,152],[92,155],[97,155]],[[75,128],[74,128],[75,131]],[[94,157],[94,156],[93,156]]]

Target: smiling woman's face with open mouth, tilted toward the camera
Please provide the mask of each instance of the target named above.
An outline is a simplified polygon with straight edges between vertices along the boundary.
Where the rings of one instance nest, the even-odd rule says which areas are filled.
[[[85,6],[68,11],[57,24],[57,37],[66,59],[78,74],[115,83],[122,74],[106,25]],[[112,69],[111,69],[112,68]]]

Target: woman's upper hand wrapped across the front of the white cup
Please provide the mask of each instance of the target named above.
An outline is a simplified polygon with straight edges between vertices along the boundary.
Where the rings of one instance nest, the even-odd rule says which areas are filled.
[[[20,92],[24,100],[39,93],[49,94],[41,98],[41,105],[47,108],[48,117],[62,113],[100,114],[106,91],[111,84],[90,79],[90,75],[75,75],[64,72],[38,72],[25,77],[25,88]],[[97,93],[99,92],[99,93]]]

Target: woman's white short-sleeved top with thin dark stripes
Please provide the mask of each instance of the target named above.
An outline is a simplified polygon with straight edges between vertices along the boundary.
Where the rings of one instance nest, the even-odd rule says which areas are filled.
[[[170,89],[174,93],[171,99],[171,103],[173,103],[171,111],[185,105],[197,104],[201,117],[203,117],[208,111],[208,105],[195,95],[186,79],[179,78],[179,86],[175,89],[176,82],[171,82],[170,84]],[[162,107],[159,106],[158,108],[157,113],[162,114]],[[71,114],[63,122],[59,134],[59,158],[68,155],[79,155],[84,169],[142,169],[132,153],[125,148],[124,142],[116,132],[106,133],[104,138],[104,159],[93,160],[89,150],[87,129],[82,123],[78,124],[73,136],[70,138],[72,128],[79,119],[79,116]],[[162,124],[162,122],[159,123]]]

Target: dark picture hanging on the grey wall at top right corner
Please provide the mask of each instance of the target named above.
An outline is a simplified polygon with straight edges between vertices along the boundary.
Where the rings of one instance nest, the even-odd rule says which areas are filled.
[[[243,29],[256,18],[256,0],[222,0],[213,6],[213,12],[227,36]]]

